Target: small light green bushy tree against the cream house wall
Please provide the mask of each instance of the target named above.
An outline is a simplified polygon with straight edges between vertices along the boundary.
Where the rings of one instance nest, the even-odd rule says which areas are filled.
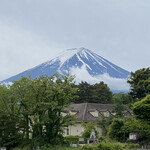
[[[84,132],[82,133],[82,137],[85,139],[90,138],[92,130],[95,131],[95,136],[98,137],[98,131],[96,130],[95,125],[95,122],[83,123],[82,126],[84,127]]]

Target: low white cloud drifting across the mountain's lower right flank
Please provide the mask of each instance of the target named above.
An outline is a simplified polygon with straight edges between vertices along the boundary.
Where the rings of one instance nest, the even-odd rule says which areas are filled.
[[[81,68],[72,68],[70,74],[75,75],[77,83],[87,81],[90,84],[99,83],[103,81],[108,85],[111,90],[128,91],[129,85],[126,79],[112,78],[108,74],[99,75],[96,77],[91,76],[86,67],[83,65]]]

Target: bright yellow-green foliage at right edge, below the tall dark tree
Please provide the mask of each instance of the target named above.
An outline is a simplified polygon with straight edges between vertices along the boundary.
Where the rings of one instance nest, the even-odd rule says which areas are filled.
[[[150,94],[133,105],[133,113],[137,119],[150,124]]]

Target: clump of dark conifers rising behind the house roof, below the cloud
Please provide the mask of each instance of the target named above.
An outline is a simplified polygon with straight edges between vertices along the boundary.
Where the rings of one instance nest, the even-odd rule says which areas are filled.
[[[78,87],[76,98],[73,102],[75,103],[112,103],[112,93],[104,82],[90,85],[87,82],[81,82]]]

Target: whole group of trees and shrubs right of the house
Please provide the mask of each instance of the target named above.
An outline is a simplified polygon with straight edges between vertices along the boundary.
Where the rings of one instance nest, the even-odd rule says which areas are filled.
[[[135,73],[132,72],[128,83],[131,87],[129,94],[133,97],[131,102],[133,116],[113,119],[108,136],[119,142],[127,142],[129,133],[137,133],[137,142],[148,143],[150,141],[150,69],[143,68]]]

